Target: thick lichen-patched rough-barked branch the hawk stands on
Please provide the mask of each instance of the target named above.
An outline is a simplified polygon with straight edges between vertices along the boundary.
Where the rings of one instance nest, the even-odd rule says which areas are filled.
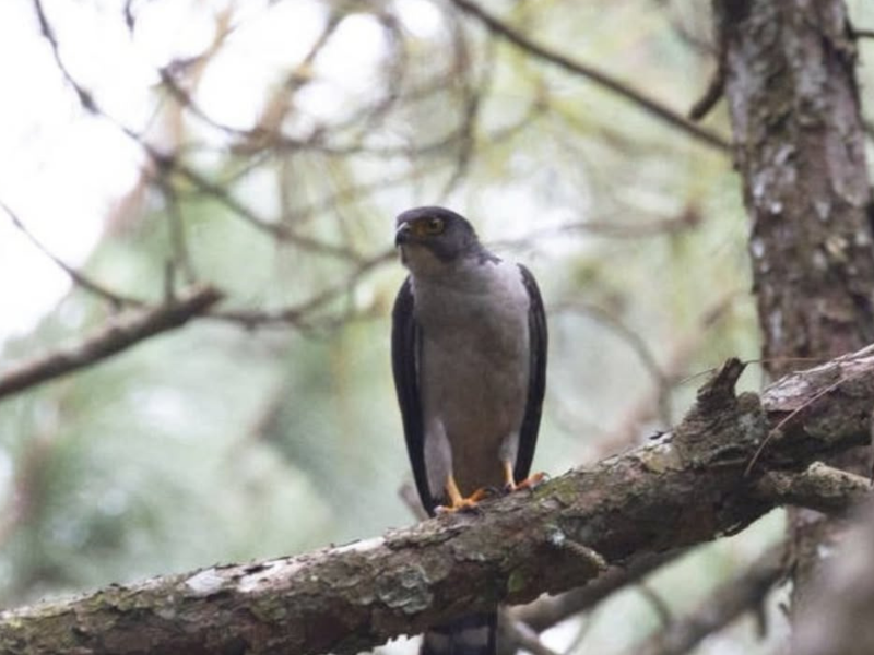
[[[870,441],[874,347],[758,395],[730,360],[670,433],[532,495],[340,548],[111,586],[0,615],[3,655],[357,653],[731,534],[776,505],[759,483]],[[751,465],[752,463],[752,465]]]

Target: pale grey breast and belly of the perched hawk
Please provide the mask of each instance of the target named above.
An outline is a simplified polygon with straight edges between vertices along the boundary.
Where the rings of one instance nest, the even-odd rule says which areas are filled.
[[[499,453],[507,442],[515,451],[528,393],[530,300],[521,272],[487,262],[464,277],[414,279],[413,293],[425,438],[438,421],[463,491],[499,486]]]

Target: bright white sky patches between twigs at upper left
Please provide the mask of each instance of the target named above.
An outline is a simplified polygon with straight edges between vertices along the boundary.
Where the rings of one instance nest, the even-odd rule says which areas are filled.
[[[155,69],[209,47],[214,16],[228,4],[134,2],[139,13],[131,36],[121,0],[44,0],[71,74],[109,115],[137,130],[154,109]],[[307,52],[324,12],[315,0],[231,4],[236,7],[232,22],[239,27],[206,69],[198,102],[217,121],[245,128],[257,118],[262,91],[277,71]],[[424,0],[403,0],[398,10],[413,33],[424,36],[437,25],[436,10]],[[371,19],[346,19],[319,57],[324,81],[307,87],[303,107],[323,115],[342,106],[339,94],[361,91],[383,51],[382,38]],[[0,201],[51,252],[76,265],[99,237],[114,203],[137,182],[141,151],[79,106],[31,2],[0,2]],[[68,276],[0,211],[0,344],[33,327],[69,285]]]

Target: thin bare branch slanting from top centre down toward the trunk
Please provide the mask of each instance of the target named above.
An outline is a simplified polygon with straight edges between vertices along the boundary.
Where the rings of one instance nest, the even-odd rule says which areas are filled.
[[[558,66],[559,68],[565,69],[566,71],[570,71],[577,75],[582,75],[600,84],[601,86],[612,91],[621,95],[622,97],[631,100],[635,105],[651,114],[652,116],[665,121],[670,126],[680,129],[690,136],[706,143],[707,145],[714,147],[717,150],[728,152],[730,148],[729,143],[722,138],[719,136],[709,130],[706,130],[694,122],[688,121],[683,115],[674,111],[673,109],[665,107],[658,100],[643,95],[639,91],[636,91],[625,84],[604,73],[603,71],[599,71],[598,69],[588,66],[586,63],[576,61],[566,55],[547,48],[546,46],[542,46],[525,35],[517,32],[515,28],[510,27],[499,19],[495,17],[491,13],[483,10],[476,3],[471,2],[470,0],[452,0],[452,2],[458,7],[461,11],[476,17],[480,22],[485,25],[485,27],[492,32],[500,36],[501,38],[506,39],[508,43],[511,43],[518,48],[525,50],[530,55],[543,59],[544,61],[548,61]]]

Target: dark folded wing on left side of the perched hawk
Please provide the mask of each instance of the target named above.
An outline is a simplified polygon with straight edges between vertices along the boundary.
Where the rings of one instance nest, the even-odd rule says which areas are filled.
[[[425,467],[425,428],[418,388],[422,330],[413,315],[414,305],[415,297],[408,277],[398,291],[391,314],[391,368],[394,373],[398,404],[401,406],[406,453],[410,455],[416,489],[425,511],[433,516],[436,502],[430,496],[428,472]]]

